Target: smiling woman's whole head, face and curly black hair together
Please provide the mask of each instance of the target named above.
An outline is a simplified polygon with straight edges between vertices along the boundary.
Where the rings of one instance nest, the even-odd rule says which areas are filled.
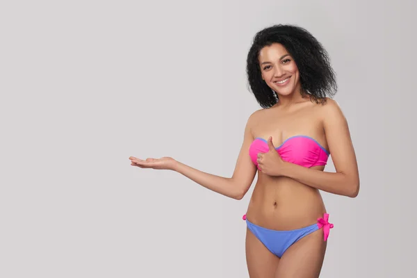
[[[280,88],[280,95],[298,90],[317,102],[333,97],[337,90],[327,51],[311,33],[297,26],[271,26],[256,33],[247,55],[247,75],[263,108],[276,103],[271,89],[276,92]],[[288,88],[291,79],[297,80]],[[295,85],[300,88],[294,88]]]

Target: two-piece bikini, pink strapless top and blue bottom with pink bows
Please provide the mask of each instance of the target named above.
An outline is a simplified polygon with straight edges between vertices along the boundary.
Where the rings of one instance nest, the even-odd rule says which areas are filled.
[[[316,140],[309,136],[302,135],[292,136],[286,139],[275,149],[277,149],[278,154],[284,161],[303,167],[326,165],[330,155],[329,152],[327,152],[327,149],[322,147]],[[259,166],[256,161],[258,153],[265,153],[268,151],[268,141],[263,138],[255,138],[250,145],[249,155],[258,169]],[[315,224],[288,231],[277,231],[258,226],[247,220],[246,215],[243,215],[243,220],[246,221],[247,227],[252,231],[252,234],[254,234],[256,238],[272,252],[272,254],[279,256],[279,258],[281,258],[288,247],[318,229],[323,229],[324,240],[326,241],[329,237],[329,230],[334,226],[329,223],[328,213],[324,213],[322,218],[318,218],[317,223]]]

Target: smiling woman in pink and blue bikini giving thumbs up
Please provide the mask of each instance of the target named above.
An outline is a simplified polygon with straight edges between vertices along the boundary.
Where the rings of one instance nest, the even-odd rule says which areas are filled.
[[[304,28],[270,26],[254,38],[247,75],[262,109],[247,120],[231,178],[170,157],[130,157],[131,165],[174,170],[234,199],[243,198],[257,172],[243,216],[250,277],[318,277],[333,227],[319,190],[347,197],[359,192],[350,131],[329,98],[337,86],[327,52]],[[330,154],[336,172],[324,172]]]

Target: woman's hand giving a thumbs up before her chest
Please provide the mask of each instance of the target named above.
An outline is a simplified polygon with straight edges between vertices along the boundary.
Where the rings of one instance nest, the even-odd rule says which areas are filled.
[[[256,160],[258,162],[258,169],[263,172],[263,174],[268,174],[268,176],[282,176],[285,162],[278,154],[277,149],[275,149],[275,146],[272,143],[272,137],[268,138],[268,147],[268,152],[260,152],[258,154]]]

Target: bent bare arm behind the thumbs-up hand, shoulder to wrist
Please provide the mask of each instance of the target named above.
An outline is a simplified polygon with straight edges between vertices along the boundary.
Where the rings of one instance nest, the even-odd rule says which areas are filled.
[[[325,136],[336,172],[313,170],[287,162],[281,163],[282,168],[279,172],[282,176],[313,188],[337,195],[357,197],[359,171],[347,120],[333,99],[327,99],[323,112]]]

